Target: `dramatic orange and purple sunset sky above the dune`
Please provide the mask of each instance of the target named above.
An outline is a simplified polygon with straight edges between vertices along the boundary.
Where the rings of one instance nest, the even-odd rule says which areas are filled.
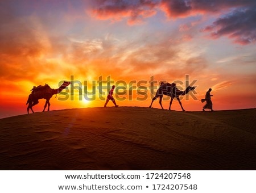
[[[148,82],[146,100],[137,99],[134,83],[120,106],[149,106],[152,76],[155,86],[179,81],[185,89],[187,74],[198,100],[181,100],[185,110],[201,111],[210,87],[214,110],[256,107],[255,0],[2,0],[0,20],[0,118],[26,114],[33,86],[57,89],[72,76],[89,90],[99,77]],[[77,90],[74,100],[59,98],[51,98],[51,110],[105,103],[97,90],[93,101],[80,101]],[[181,110],[177,101],[172,109]]]

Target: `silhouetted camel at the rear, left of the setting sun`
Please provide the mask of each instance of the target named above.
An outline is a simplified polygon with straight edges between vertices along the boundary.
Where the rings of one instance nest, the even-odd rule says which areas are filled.
[[[49,85],[47,84],[44,86],[40,85],[38,87],[34,86],[34,88],[31,89],[32,93],[28,96],[28,99],[27,99],[27,103],[26,103],[28,104],[27,113],[29,114],[30,109],[34,113],[34,111],[32,110],[32,107],[39,103],[38,102],[39,99],[46,99],[46,104],[44,104],[44,110],[46,110],[46,107],[48,105],[48,111],[49,111],[49,106],[51,105],[49,103],[49,99],[52,98],[52,95],[60,93],[69,84],[71,84],[71,82],[64,81],[63,84],[59,87],[59,89],[51,89],[51,87],[49,87]]]

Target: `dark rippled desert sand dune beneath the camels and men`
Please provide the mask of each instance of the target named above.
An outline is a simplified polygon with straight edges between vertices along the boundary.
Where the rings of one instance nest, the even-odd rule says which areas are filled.
[[[1,170],[256,170],[256,109],[97,107],[0,119]]]

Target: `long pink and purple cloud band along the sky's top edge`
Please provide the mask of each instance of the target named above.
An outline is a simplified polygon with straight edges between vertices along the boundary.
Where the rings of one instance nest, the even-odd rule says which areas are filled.
[[[162,10],[168,18],[184,18],[197,14],[222,14],[240,7],[250,7],[254,0],[98,0],[92,1],[92,12],[98,19],[142,21]]]

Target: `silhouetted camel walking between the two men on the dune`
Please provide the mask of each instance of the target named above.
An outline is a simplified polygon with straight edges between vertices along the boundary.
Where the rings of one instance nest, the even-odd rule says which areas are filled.
[[[152,102],[150,104],[150,108],[151,108],[152,103],[154,102],[154,100],[156,98],[160,97],[159,103],[160,103],[160,106],[162,107],[162,109],[164,109],[163,106],[162,106],[162,98],[163,98],[163,95],[167,95],[167,96],[171,96],[169,110],[171,110],[172,100],[174,100],[174,98],[176,98],[177,101],[180,103],[181,109],[183,111],[185,111],[181,102],[180,102],[179,96],[180,95],[185,95],[189,91],[194,90],[194,89],[195,89],[195,87],[188,86],[187,89],[185,89],[184,91],[180,91],[179,89],[177,89],[175,83],[171,83],[171,84],[168,83],[168,82],[167,83],[162,83],[161,86],[159,87],[159,89],[156,91],[155,97],[152,99]]]

